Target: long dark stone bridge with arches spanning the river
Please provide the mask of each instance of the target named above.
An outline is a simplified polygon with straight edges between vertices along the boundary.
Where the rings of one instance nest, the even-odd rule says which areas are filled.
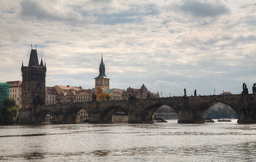
[[[178,123],[204,123],[204,114],[216,103],[229,105],[238,114],[239,124],[256,123],[256,95],[237,94],[230,96],[169,97],[160,99],[129,99],[123,101],[97,101],[43,105],[30,112],[30,124],[41,124],[51,115],[52,124],[75,124],[80,109],[89,113],[89,123],[111,123],[112,114],[122,109],[129,116],[129,123],[152,123],[154,111],[163,105],[171,107],[179,116]]]

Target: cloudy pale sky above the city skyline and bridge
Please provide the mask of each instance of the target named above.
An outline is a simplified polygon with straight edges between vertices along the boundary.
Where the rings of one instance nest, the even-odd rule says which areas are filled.
[[[46,86],[93,88],[102,55],[110,88],[169,97],[256,82],[255,1],[1,0],[0,23],[0,82],[22,80],[31,43]]]

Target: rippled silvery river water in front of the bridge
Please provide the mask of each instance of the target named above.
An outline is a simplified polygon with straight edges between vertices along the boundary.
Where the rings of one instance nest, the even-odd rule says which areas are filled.
[[[256,161],[256,124],[0,126],[0,161]]]

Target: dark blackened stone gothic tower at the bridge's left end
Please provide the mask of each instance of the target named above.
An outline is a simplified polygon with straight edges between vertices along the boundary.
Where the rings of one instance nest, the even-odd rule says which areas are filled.
[[[46,65],[43,59],[39,64],[37,49],[32,49],[28,66],[22,61],[22,109],[35,109],[37,105],[45,105]]]

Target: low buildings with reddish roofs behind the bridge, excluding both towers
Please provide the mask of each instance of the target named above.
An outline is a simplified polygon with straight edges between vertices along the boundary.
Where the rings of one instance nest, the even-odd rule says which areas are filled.
[[[16,104],[22,108],[22,81],[6,82],[10,99],[14,99]],[[7,90],[5,90],[7,91]],[[109,100],[123,100],[129,99],[129,97],[135,97],[137,99],[146,99],[148,97],[159,97],[158,93],[150,92],[143,84],[140,89],[127,88],[127,90],[119,88],[91,88],[83,89],[81,86],[45,86],[45,105],[51,105],[56,103],[73,103],[73,102],[86,102],[92,101],[93,95],[96,97],[96,101]],[[6,95],[5,95],[6,96]]]

